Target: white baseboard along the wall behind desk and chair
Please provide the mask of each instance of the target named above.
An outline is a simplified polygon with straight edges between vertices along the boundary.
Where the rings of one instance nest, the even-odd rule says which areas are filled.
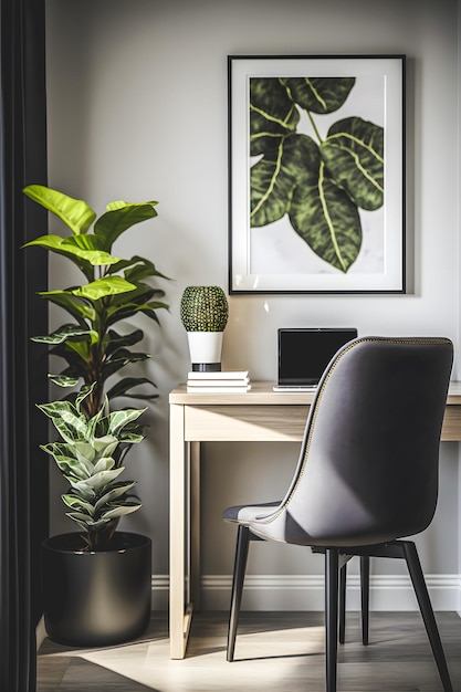
[[[228,610],[232,577],[202,576],[203,610]],[[426,575],[434,610],[450,610],[461,616],[461,575]],[[346,607],[359,610],[360,581],[348,575]],[[153,610],[168,609],[168,575],[153,576]],[[242,599],[243,610],[323,610],[323,575],[248,575]],[[370,610],[418,610],[408,576],[371,575]]]

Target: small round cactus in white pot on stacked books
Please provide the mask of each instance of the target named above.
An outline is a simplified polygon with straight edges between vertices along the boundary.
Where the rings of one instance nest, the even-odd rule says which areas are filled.
[[[222,334],[229,318],[228,300],[220,286],[187,286],[180,315],[187,332],[192,370],[221,370]]]

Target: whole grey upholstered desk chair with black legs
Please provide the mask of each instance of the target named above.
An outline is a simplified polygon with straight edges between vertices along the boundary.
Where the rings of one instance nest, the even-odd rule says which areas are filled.
[[[229,507],[238,524],[228,635],[233,660],[250,539],[325,554],[326,689],[336,690],[346,562],[360,555],[367,640],[370,556],[406,559],[444,692],[452,686],[415,543],[438,496],[439,443],[453,357],[447,338],[362,337],[327,366],[282,501]],[[339,573],[342,588],[338,588]]]

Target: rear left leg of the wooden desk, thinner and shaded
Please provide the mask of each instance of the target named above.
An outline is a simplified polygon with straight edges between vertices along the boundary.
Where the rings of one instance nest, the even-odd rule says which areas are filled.
[[[200,610],[200,442],[190,443],[190,600]]]

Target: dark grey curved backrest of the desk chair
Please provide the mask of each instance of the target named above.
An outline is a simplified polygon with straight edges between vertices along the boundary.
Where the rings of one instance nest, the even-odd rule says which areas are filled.
[[[452,359],[448,338],[362,337],[336,354],[273,516],[279,539],[357,546],[429,525]]]

